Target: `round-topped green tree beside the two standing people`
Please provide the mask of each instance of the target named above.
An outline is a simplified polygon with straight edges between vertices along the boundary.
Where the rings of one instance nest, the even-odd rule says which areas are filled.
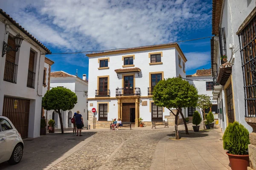
[[[74,92],[67,88],[52,88],[47,91],[42,98],[42,106],[47,111],[54,110],[58,113],[61,124],[61,133],[64,133],[63,122],[61,117],[61,110],[67,111],[75,107],[77,103],[77,96]]]

